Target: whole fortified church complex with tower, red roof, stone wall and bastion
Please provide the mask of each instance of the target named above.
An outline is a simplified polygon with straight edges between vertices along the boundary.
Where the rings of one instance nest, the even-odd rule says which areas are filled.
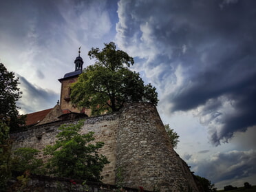
[[[81,134],[94,132],[95,142],[104,142],[99,150],[109,160],[100,173],[104,184],[118,184],[149,191],[202,191],[189,166],[173,149],[171,140],[155,105],[127,103],[120,111],[103,116],[89,116],[89,109],[80,109],[70,100],[71,85],[83,72],[83,58],[74,61],[73,72],[58,79],[61,83],[60,102],[52,108],[28,114],[30,129],[12,133],[12,150],[21,147],[43,149],[56,140],[58,128],[64,123],[76,123],[83,118]],[[121,170],[118,173],[118,170]]]

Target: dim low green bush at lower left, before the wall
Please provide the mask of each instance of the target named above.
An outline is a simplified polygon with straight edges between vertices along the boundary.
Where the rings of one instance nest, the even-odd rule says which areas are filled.
[[[43,160],[37,159],[40,151],[30,147],[19,148],[14,151],[12,157],[12,170],[14,171],[30,171],[30,173],[43,173]]]

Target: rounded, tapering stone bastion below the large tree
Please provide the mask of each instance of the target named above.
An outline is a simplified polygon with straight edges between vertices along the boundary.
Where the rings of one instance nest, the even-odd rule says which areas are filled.
[[[153,105],[132,104],[122,110],[116,156],[116,167],[123,172],[125,186],[161,191],[188,191],[192,187],[198,191],[186,163],[173,150]]]

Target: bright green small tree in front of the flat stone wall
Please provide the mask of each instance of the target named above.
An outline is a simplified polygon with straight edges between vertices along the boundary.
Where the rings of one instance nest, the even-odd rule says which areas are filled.
[[[55,145],[45,147],[45,155],[50,155],[46,168],[51,175],[81,180],[99,181],[100,171],[107,158],[98,154],[103,142],[94,141],[94,133],[79,134],[83,121],[75,125],[61,125]]]

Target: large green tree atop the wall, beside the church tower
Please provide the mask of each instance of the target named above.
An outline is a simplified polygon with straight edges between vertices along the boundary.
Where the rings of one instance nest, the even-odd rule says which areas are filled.
[[[152,85],[144,85],[140,74],[128,69],[134,58],[105,43],[103,50],[92,48],[89,57],[96,63],[85,68],[72,86],[72,103],[89,107],[93,114],[118,111],[124,103],[148,102],[157,105],[158,94]]]

